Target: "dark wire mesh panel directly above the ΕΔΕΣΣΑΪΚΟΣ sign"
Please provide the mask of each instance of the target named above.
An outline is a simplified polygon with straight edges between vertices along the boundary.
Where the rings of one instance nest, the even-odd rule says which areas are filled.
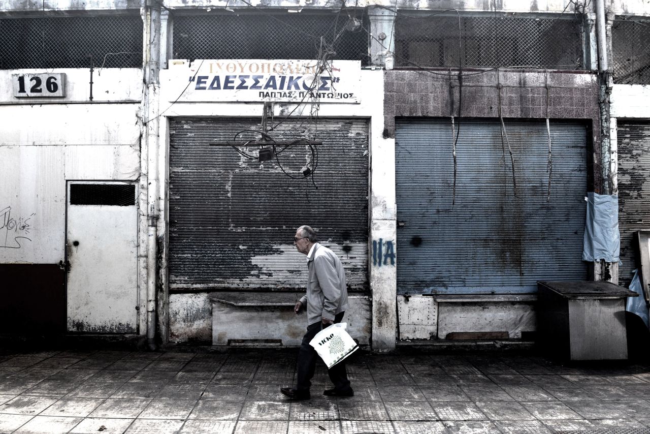
[[[335,51],[333,59],[368,64],[365,20],[304,13],[175,16],[174,58],[319,59]]]

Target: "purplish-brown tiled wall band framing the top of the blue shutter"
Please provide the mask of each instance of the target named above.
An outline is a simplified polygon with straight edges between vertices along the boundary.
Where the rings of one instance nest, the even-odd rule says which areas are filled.
[[[470,71],[463,71],[467,75],[463,78],[462,99],[458,70],[437,70],[437,74],[423,71],[386,72],[383,102],[385,134],[395,137],[395,116],[448,118],[451,115],[459,116],[460,111],[460,116],[465,117],[498,118],[500,93],[504,118],[549,116],[553,119],[586,119],[591,123],[592,143],[599,143],[600,117],[595,74],[485,70],[481,74],[471,75]],[[601,185],[598,163],[601,157],[599,146],[594,148],[593,161],[596,163],[592,168],[593,184],[598,189]]]

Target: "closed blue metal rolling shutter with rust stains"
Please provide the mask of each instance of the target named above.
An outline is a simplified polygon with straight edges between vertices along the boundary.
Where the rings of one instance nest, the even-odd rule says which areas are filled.
[[[458,128],[458,124],[456,125]],[[498,120],[396,122],[399,293],[527,293],[537,280],[584,280],[586,126],[506,121],[517,196]]]

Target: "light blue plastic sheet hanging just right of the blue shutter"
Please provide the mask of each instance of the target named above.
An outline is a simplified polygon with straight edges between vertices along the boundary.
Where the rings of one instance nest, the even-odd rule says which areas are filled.
[[[583,261],[618,262],[621,236],[618,232],[618,197],[587,193]]]

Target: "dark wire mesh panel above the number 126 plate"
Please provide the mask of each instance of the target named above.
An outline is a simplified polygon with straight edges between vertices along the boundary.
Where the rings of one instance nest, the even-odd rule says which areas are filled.
[[[0,18],[0,69],[140,68],[139,15]]]

